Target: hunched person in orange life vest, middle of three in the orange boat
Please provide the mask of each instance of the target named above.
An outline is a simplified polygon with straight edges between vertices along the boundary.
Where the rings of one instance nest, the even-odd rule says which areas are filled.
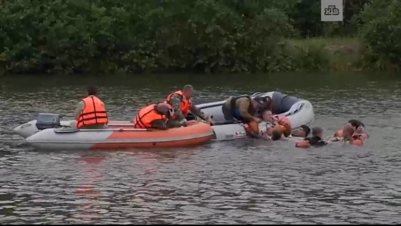
[[[168,129],[179,127],[174,120],[174,110],[168,103],[150,104],[140,109],[133,119],[135,128]]]

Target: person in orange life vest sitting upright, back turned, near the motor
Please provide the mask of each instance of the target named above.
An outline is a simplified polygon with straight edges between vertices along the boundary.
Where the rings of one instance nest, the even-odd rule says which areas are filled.
[[[105,128],[108,118],[104,103],[96,96],[97,88],[88,87],[88,96],[83,98],[75,110],[77,128]]]

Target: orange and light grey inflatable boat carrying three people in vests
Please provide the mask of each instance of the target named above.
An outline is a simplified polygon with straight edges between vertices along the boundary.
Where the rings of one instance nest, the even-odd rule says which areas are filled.
[[[124,149],[191,146],[206,143],[212,137],[211,125],[199,121],[167,130],[137,129],[132,123],[119,128],[45,128],[29,136],[27,142],[38,149]]]

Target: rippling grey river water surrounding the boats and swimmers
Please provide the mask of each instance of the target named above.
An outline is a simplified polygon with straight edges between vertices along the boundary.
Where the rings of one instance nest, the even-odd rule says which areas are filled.
[[[389,74],[23,76],[0,78],[0,223],[399,223],[401,79]],[[40,151],[12,128],[38,112],[70,117],[88,84],[112,119],[185,83],[196,98],[278,90],[310,100],[333,134],[351,118],[363,147],[281,140],[193,148]]]

